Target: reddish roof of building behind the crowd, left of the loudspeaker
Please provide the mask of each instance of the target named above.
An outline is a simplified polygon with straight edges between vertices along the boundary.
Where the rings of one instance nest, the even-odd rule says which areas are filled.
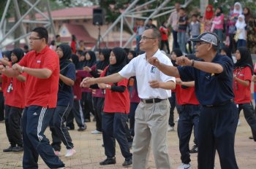
[[[92,38],[86,28],[83,25],[76,25],[70,23],[64,23],[64,26],[68,29],[69,33],[75,35],[78,41],[83,40],[86,43],[95,43],[96,39]],[[71,41],[71,37],[61,37],[61,41]]]

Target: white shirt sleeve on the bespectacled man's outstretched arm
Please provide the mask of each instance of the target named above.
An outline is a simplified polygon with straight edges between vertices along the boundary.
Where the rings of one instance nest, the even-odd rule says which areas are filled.
[[[136,74],[135,62],[138,59],[139,59],[138,57],[132,59],[126,66],[124,66],[124,68],[121,69],[121,71],[118,72],[118,74],[120,74],[126,79],[129,79],[129,77],[131,76],[135,76]]]

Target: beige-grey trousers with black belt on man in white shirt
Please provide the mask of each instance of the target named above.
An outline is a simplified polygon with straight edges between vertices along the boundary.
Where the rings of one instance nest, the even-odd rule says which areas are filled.
[[[159,103],[140,102],[135,111],[135,137],[133,138],[132,168],[146,168],[150,143],[157,169],[170,168],[167,151],[167,126],[170,103],[166,99]]]

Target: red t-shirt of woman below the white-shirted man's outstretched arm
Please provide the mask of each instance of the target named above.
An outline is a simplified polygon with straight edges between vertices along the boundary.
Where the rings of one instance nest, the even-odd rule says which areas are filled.
[[[105,68],[105,70],[100,75],[105,76],[106,70],[108,69],[108,66]],[[127,90],[127,84],[128,79],[123,79],[121,82],[118,82],[118,86],[124,86],[126,89],[124,90],[124,93],[118,93],[113,92],[112,90],[106,89],[105,90],[105,103],[104,103],[104,109],[103,111],[106,113],[124,113],[129,114],[129,91]],[[110,84],[112,85],[112,84]]]

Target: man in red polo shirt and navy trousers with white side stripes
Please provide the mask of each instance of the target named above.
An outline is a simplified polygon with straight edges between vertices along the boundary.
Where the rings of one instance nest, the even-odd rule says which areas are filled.
[[[18,76],[25,72],[25,109],[23,111],[23,168],[38,168],[38,156],[49,168],[64,168],[44,132],[56,108],[59,89],[59,57],[48,47],[48,31],[34,28],[29,37],[31,52],[12,68],[0,66],[1,73]]]

